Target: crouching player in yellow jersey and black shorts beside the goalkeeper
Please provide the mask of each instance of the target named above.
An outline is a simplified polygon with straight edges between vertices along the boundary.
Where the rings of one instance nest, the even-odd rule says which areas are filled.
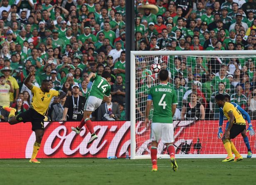
[[[234,105],[225,101],[224,94],[217,94],[215,96],[215,101],[219,107],[223,107],[223,113],[229,120],[229,126],[222,137],[222,142],[228,153],[228,157],[224,159],[223,162],[241,161],[243,157],[236,150],[234,143],[231,142],[230,139],[234,139],[237,135],[245,130],[246,122],[243,115],[237,108],[234,107]],[[235,158],[232,152],[235,154]]]

